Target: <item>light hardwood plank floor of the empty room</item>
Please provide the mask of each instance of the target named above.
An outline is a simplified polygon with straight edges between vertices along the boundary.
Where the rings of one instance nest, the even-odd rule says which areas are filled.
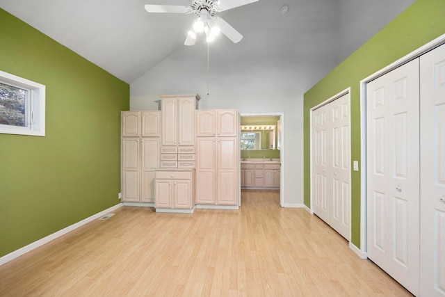
[[[0,296],[411,296],[277,191],[238,211],[122,207],[0,266]]]

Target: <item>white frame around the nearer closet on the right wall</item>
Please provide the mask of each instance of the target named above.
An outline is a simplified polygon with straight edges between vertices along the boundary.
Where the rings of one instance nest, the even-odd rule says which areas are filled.
[[[423,45],[422,47],[419,47],[419,49],[415,49],[410,54],[407,54],[406,56],[403,56],[402,58],[398,59],[394,63],[391,63],[387,65],[387,67],[382,68],[381,70],[378,70],[378,72],[375,72],[371,74],[369,77],[366,77],[365,79],[362,79],[360,81],[360,147],[361,147],[361,154],[360,159],[362,160],[362,167],[360,168],[360,184],[361,184],[361,193],[360,193],[360,248],[357,248],[350,243],[350,248],[352,248],[359,257],[362,259],[367,258],[367,218],[366,218],[366,84],[369,83],[369,81],[372,81],[373,79],[376,79],[378,77],[381,77],[383,74],[386,74],[387,72],[390,72],[391,70],[396,69],[397,67],[414,60],[415,58],[418,58],[422,54],[425,54],[427,51],[430,51],[431,49],[434,49],[435,47],[438,47],[439,45],[442,45],[445,43],[445,34],[439,36],[435,40],[432,40],[428,42],[426,45]]]

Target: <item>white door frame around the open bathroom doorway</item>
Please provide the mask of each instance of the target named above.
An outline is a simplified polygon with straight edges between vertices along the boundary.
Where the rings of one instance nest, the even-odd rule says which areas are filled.
[[[241,117],[275,117],[275,116],[279,116],[280,117],[280,206],[283,207],[284,206],[284,166],[286,166],[286,162],[284,161],[284,113],[240,113],[240,126],[241,126]],[[239,155],[241,156],[241,145],[239,148],[240,152]],[[241,163],[241,158],[240,158],[240,163]],[[239,168],[241,168],[241,166],[239,166]],[[241,170],[241,169],[240,169]],[[241,175],[240,175],[241,176]],[[240,179],[241,182],[241,179]],[[240,188],[240,192],[241,192],[241,186]],[[239,195],[240,197],[240,201],[239,201],[239,205],[241,205],[241,193]]]

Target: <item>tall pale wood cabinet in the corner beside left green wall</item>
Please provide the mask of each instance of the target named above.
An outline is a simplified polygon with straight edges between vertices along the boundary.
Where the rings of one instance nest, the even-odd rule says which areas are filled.
[[[122,202],[154,203],[160,112],[122,111],[121,120]]]

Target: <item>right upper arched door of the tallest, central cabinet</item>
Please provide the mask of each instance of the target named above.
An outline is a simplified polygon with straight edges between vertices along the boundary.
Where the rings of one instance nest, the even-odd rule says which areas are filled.
[[[178,109],[178,144],[195,145],[195,97],[179,97]]]

